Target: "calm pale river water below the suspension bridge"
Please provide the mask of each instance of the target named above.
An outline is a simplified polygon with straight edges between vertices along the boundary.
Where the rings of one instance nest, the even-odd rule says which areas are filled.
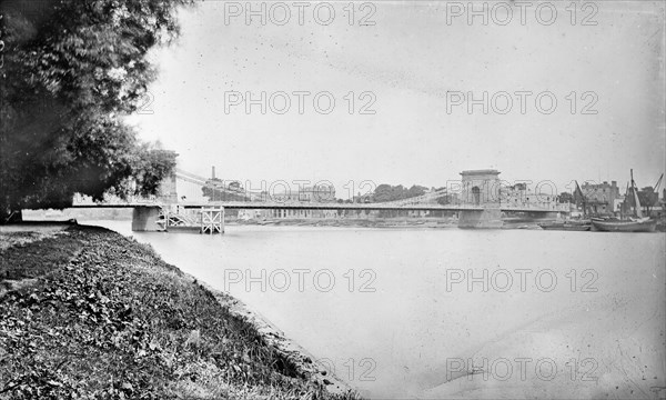
[[[666,396],[663,233],[101,224],[230,291],[373,398]]]

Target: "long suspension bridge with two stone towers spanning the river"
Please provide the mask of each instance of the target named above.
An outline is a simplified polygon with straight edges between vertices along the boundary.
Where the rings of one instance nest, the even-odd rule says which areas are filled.
[[[206,179],[181,169],[164,180],[159,196],[151,198],[109,199],[92,202],[74,199],[73,208],[132,208],[133,230],[169,230],[174,227],[192,227],[205,232],[224,231],[224,210],[269,210],[264,218],[300,218],[317,216],[326,218],[354,217],[362,212],[391,211],[425,217],[442,212],[456,212],[462,228],[497,228],[502,226],[502,212],[523,212],[537,217],[568,213],[569,204],[561,204],[555,197],[544,201],[502,202],[501,184],[495,170],[463,171],[456,200],[446,204],[438,199],[450,196],[444,189],[431,190],[422,196],[390,202],[340,202],[334,199],[307,199],[302,193],[266,193],[246,191],[238,184],[225,186],[223,181]],[[204,188],[209,196],[204,196]],[[313,190],[313,188],[301,188]],[[218,199],[219,200],[218,200]],[[193,211],[193,212],[192,212]]]

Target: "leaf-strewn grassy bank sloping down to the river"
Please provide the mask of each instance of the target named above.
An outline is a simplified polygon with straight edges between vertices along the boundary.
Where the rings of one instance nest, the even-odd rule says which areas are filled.
[[[354,398],[150,247],[77,226],[0,241],[0,399]]]

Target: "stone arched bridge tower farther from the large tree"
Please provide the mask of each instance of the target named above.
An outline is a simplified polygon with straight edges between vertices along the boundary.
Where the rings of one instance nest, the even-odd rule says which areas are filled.
[[[461,206],[458,228],[502,228],[500,210],[500,171],[493,169],[461,172]]]

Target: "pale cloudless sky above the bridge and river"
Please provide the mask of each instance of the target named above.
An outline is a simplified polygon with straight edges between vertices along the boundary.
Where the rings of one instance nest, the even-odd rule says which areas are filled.
[[[129,118],[140,137],[189,172],[215,166],[252,189],[327,180],[339,198],[363,181],[443,187],[468,169],[558,191],[624,187],[630,168],[652,186],[665,170],[664,2],[491,1],[486,24],[470,20],[481,1],[305,3],[252,2],[265,24],[245,1],[181,10],[181,37],[151,53],[151,101]],[[265,114],[248,92],[265,92]]]

